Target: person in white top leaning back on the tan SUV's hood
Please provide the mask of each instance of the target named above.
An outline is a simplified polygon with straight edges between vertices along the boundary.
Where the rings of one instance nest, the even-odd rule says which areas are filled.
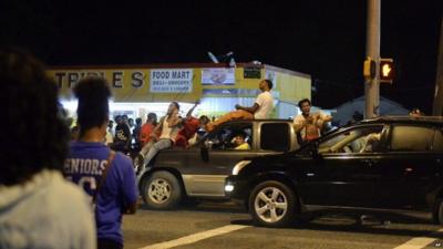
[[[162,117],[151,133],[152,139],[143,146],[142,151],[136,158],[136,166],[140,167],[141,163],[144,165],[150,164],[152,158],[157,155],[162,149],[169,148],[175,143],[175,137],[179,131],[182,118],[178,116],[179,105],[177,102],[172,102],[167,108],[166,116]],[[161,135],[157,137],[158,132]]]

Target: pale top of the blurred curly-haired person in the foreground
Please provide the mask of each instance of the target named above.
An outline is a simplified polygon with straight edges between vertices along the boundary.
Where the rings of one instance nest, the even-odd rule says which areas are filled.
[[[0,186],[0,248],[96,248],[90,199],[49,169],[23,185]]]

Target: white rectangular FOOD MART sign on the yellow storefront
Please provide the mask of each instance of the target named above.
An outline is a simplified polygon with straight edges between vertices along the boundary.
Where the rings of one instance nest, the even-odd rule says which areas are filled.
[[[151,70],[152,93],[190,93],[192,69]]]

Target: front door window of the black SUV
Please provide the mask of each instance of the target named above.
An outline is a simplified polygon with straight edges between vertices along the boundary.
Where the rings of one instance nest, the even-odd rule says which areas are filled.
[[[380,151],[382,126],[348,129],[322,141],[319,153],[372,153]]]

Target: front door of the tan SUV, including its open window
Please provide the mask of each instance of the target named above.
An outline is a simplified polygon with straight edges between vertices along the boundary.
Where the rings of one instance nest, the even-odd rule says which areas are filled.
[[[250,149],[235,149],[231,144],[237,133],[247,135]],[[182,168],[182,177],[189,196],[225,196],[225,178],[235,164],[257,154],[254,143],[254,122],[243,121],[220,125],[209,134],[199,147],[188,154]]]

